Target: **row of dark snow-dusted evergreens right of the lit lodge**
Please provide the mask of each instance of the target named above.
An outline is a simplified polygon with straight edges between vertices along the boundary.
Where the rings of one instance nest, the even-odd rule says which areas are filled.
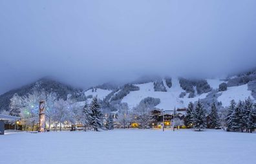
[[[210,113],[206,114],[204,105],[200,100],[193,104],[189,102],[187,106],[187,115],[185,117],[185,124],[187,127],[193,127],[194,129],[205,129],[206,127],[210,129],[220,128],[220,116],[218,109],[213,102],[211,104]],[[224,116],[224,125],[222,128],[226,127],[226,131],[240,131],[240,132],[253,132],[256,128],[256,104],[250,97],[246,100],[241,101],[236,104],[235,100],[231,100],[228,107],[228,112]]]

